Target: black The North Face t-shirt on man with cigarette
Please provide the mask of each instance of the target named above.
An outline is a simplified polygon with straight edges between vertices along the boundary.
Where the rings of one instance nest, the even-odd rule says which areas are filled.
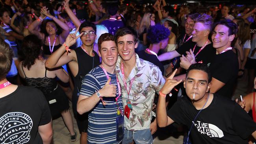
[[[174,103],[167,115],[190,129],[199,111],[184,96]],[[214,94],[210,105],[195,119],[189,138],[193,144],[248,144],[246,138],[255,130],[256,124],[240,105]]]

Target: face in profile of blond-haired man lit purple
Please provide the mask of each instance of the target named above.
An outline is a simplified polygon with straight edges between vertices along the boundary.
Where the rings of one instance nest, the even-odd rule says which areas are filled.
[[[208,32],[208,29],[206,28],[206,26],[204,26],[204,24],[202,24],[201,22],[196,22],[194,26],[194,30],[192,32],[192,35],[193,35],[192,41],[193,42],[201,41],[204,37],[207,36],[207,32]]]

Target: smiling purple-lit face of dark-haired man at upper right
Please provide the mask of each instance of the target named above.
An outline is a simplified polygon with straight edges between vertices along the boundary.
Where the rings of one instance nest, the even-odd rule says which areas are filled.
[[[231,46],[235,35],[228,36],[228,27],[218,24],[211,35],[211,40],[213,42],[213,48],[228,48]]]

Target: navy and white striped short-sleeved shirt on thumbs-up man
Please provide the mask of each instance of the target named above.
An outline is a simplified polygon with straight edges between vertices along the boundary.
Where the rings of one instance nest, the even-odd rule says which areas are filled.
[[[111,84],[117,86],[117,78],[115,74],[109,74]],[[89,72],[82,81],[82,89],[80,94],[83,96],[92,96],[98,90],[102,89],[108,81],[104,71],[97,66]],[[117,95],[118,96],[118,87]],[[117,100],[118,105],[122,107],[122,96]],[[89,111],[88,115],[88,144],[119,144],[117,141],[117,103],[114,97],[103,97],[107,105],[103,105],[100,100],[95,107]],[[121,116],[121,115],[119,115]]]

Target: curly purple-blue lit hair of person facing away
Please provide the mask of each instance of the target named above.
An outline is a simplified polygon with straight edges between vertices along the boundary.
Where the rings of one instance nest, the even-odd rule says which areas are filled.
[[[167,39],[170,35],[170,31],[165,26],[156,24],[150,27],[147,33],[147,40],[150,44],[156,44],[164,39]]]

